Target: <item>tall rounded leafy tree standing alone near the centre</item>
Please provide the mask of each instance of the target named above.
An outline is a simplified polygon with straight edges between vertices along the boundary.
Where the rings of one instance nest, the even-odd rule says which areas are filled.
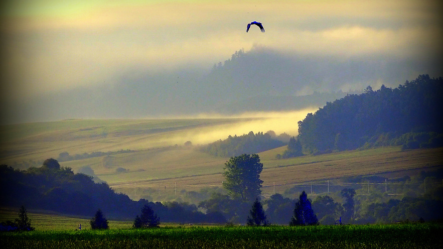
[[[261,193],[263,181],[260,180],[260,173],[263,170],[263,163],[257,154],[231,157],[225,163],[223,176],[225,187],[233,197],[240,197],[243,200],[254,200]]]

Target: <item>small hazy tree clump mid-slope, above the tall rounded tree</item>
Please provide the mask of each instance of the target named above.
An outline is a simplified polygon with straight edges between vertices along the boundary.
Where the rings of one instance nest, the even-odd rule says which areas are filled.
[[[228,136],[225,140],[218,140],[206,146],[202,146],[200,150],[215,156],[232,157],[241,154],[254,154],[269,149],[274,149],[285,145],[277,137],[273,136],[273,132],[253,131],[241,136]]]

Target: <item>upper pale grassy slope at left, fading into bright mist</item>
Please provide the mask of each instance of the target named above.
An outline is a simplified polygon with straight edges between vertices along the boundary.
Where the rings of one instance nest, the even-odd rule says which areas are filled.
[[[227,137],[217,131],[229,132],[233,125],[261,120],[66,120],[6,125],[0,127],[0,160],[3,164],[13,164],[57,158],[61,152],[75,155],[121,149],[146,150],[183,145],[188,140],[193,144],[207,143]]]

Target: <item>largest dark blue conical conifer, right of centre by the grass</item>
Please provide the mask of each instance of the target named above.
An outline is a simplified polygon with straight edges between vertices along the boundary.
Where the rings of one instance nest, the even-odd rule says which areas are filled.
[[[311,203],[306,193],[301,192],[299,200],[295,203],[294,216],[291,217],[290,226],[317,225],[318,219],[312,210]]]

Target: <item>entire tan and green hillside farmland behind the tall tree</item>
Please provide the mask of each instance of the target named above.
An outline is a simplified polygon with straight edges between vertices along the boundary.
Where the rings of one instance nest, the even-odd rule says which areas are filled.
[[[89,166],[101,180],[136,200],[143,198],[137,189],[172,193],[177,188],[221,187],[223,166],[229,158],[202,153],[196,147],[228,135],[248,133],[266,121],[266,118],[66,120],[7,125],[0,129],[0,163],[16,168],[38,167],[44,159],[57,158],[62,152],[73,156],[130,150],[60,164],[74,172]],[[192,145],[185,146],[186,141]],[[282,192],[296,183],[375,174],[389,178],[443,165],[443,148],[402,151],[400,147],[381,147],[276,159],[285,149],[283,146],[259,153],[264,164],[261,174],[264,193]]]

